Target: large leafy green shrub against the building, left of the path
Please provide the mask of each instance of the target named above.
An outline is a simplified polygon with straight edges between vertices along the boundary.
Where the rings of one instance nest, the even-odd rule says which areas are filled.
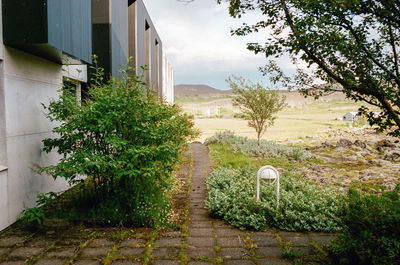
[[[65,91],[51,101],[48,116],[58,125],[55,138],[43,141],[44,151],[55,149],[62,157],[41,171],[71,185],[89,177],[74,211],[89,218],[151,225],[167,214],[165,193],[195,131],[188,116],[148,93],[132,70],[107,83],[97,73],[84,102]]]

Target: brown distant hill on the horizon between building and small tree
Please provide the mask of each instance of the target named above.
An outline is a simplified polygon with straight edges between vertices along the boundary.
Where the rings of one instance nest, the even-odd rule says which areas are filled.
[[[207,85],[175,85],[176,97],[219,97],[232,95],[232,90],[216,89]]]

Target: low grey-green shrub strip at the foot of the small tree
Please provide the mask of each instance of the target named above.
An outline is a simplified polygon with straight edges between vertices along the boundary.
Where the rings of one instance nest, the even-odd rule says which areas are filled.
[[[287,157],[295,160],[305,160],[311,157],[310,152],[303,151],[297,147],[275,144],[266,140],[260,140],[260,144],[258,144],[257,140],[237,136],[232,131],[218,132],[206,139],[205,144],[229,145],[233,152],[243,153],[251,157]]]

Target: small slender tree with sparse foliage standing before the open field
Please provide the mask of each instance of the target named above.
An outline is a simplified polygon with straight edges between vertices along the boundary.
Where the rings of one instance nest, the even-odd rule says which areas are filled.
[[[279,96],[278,91],[270,90],[260,83],[253,83],[243,77],[229,77],[226,82],[236,95],[233,105],[241,111],[241,118],[248,121],[249,127],[257,132],[258,145],[260,138],[268,127],[274,124],[275,113],[282,110],[285,96]]]

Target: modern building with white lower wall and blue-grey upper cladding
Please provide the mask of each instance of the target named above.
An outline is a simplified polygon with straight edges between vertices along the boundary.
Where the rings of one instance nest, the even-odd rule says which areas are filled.
[[[76,84],[79,98],[96,54],[100,66],[112,76],[119,74],[129,56],[135,58],[135,66],[149,65],[143,78],[166,100],[173,92],[164,77],[173,79],[172,69],[164,67],[161,40],[141,0],[0,2],[2,230],[24,209],[35,206],[37,194],[69,188],[64,180],[54,181],[34,170],[36,165],[58,161],[56,152],[42,151],[42,140],[54,136],[54,124],[42,104],[59,96],[65,77]]]

